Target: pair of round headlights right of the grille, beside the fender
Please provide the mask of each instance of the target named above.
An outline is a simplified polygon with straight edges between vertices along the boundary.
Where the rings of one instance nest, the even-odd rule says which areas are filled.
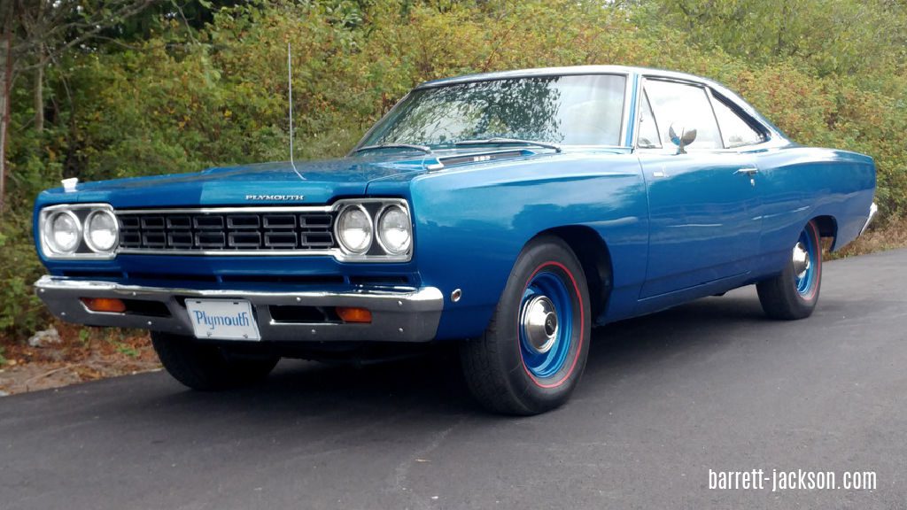
[[[406,201],[341,201],[337,207],[334,231],[345,259],[409,260],[413,221]]]

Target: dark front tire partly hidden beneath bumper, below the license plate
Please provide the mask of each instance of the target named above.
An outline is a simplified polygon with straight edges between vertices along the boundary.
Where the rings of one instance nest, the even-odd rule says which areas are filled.
[[[180,383],[204,391],[239,387],[266,378],[280,358],[239,358],[194,338],[151,332],[161,364]]]

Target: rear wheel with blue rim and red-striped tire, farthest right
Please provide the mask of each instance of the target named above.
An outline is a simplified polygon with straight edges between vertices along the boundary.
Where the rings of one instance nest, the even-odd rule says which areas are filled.
[[[815,309],[822,286],[822,244],[814,221],[806,223],[785,270],[756,284],[759,302],[772,319],[805,319]]]

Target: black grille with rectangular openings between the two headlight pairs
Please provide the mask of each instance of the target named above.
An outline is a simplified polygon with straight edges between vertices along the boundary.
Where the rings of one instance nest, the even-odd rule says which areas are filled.
[[[330,250],[334,212],[117,211],[120,250]]]

